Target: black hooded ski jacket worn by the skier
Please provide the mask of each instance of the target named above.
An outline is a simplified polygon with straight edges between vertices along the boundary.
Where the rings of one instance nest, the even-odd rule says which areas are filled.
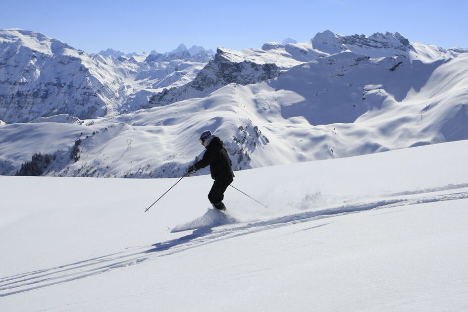
[[[214,180],[232,179],[234,177],[231,168],[232,162],[227,155],[226,149],[223,147],[223,141],[218,137],[214,137],[206,149],[202,159],[195,163],[197,170],[209,165],[209,172]]]

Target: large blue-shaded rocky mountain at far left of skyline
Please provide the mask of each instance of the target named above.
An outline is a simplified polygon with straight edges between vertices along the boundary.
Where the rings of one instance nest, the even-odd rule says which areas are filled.
[[[104,115],[105,99],[115,92],[90,69],[82,51],[43,34],[0,31],[0,115],[8,123],[70,112],[89,118]],[[102,89],[99,97],[96,89]]]

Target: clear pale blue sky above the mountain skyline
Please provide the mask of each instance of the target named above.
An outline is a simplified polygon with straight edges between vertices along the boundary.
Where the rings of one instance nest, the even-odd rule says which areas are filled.
[[[0,0],[0,29],[44,33],[85,52],[168,52],[180,43],[260,48],[317,32],[400,32],[411,42],[468,48],[468,0]]]

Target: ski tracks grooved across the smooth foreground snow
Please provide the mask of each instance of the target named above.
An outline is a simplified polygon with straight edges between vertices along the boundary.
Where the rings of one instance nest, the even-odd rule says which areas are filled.
[[[434,192],[448,190],[452,190],[452,192],[449,194],[434,194]],[[155,260],[162,256],[169,256],[221,240],[282,226],[370,209],[392,208],[460,199],[468,199],[468,184],[448,185],[444,188],[428,189],[426,192],[417,190],[415,192],[398,193],[394,198],[385,198],[367,203],[351,203],[322,210],[304,211],[242,224],[212,224],[194,229],[191,234],[186,236],[156,243],[151,246],[127,248],[125,251],[97,258],[2,277],[0,278],[0,297],[77,280],[83,277],[100,274],[111,269],[142,263],[146,260]],[[316,226],[312,228],[316,228]]]

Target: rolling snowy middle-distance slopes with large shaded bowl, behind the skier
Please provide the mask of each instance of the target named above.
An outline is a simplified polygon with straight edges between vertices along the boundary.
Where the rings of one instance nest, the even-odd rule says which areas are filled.
[[[235,169],[466,139],[466,68],[467,56],[425,64],[344,52],[268,82],[230,84],[207,98],[114,118],[7,124],[2,173],[40,152],[57,159],[45,175],[181,176],[203,152],[205,129],[225,142]],[[75,161],[69,154],[77,140]]]

